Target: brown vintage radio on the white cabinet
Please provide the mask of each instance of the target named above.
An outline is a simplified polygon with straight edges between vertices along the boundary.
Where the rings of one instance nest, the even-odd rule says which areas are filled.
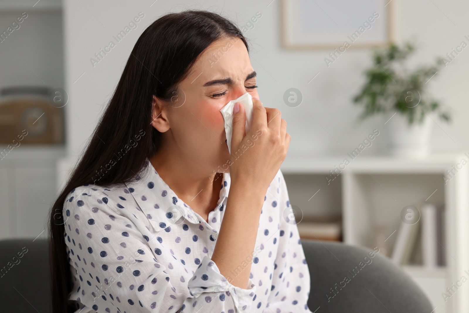
[[[61,90],[62,91],[62,90]],[[56,97],[54,99],[54,97]],[[21,136],[22,144],[64,142],[64,108],[60,92],[43,87],[10,87],[0,91],[0,144]],[[65,103],[65,104],[64,104]]]

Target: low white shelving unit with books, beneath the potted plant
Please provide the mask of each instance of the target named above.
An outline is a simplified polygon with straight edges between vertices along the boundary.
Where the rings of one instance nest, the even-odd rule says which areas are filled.
[[[350,164],[328,184],[326,176],[332,178],[330,171],[339,167],[345,158]],[[460,169],[454,171],[455,175],[449,181],[445,182],[443,179],[446,171],[460,163],[461,159],[469,162],[469,157],[463,153],[433,155],[424,160],[361,155],[354,160],[348,155],[344,158],[287,155],[281,170],[289,177],[290,182],[295,176],[304,181],[305,175],[315,181],[315,189],[308,190],[304,198],[310,198],[318,189],[324,190],[328,198],[332,198],[331,192],[335,188],[335,192],[339,192],[336,197],[342,199],[344,243],[372,248],[375,246],[375,227],[381,225],[386,229],[386,237],[390,236],[386,240],[388,254],[392,251],[397,231],[393,232],[399,228],[404,206],[414,205],[420,208],[428,202],[444,204],[445,242],[440,244],[447,252],[446,267],[429,269],[413,265],[402,268],[430,298],[433,307],[436,307],[433,312],[462,313],[469,312],[469,287],[461,287],[446,302],[441,295],[447,292],[446,288],[451,287],[452,283],[459,281],[461,276],[469,278],[464,272],[469,270],[469,163],[459,165]],[[340,184],[340,189],[337,185],[331,187],[337,183]],[[300,184],[298,188],[301,188]],[[299,194],[295,184],[288,185],[288,190],[289,193]],[[326,205],[324,201],[327,199],[323,199],[320,206]],[[309,203],[309,208],[315,205],[314,202]],[[303,206],[302,209],[306,211],[308,207]]]

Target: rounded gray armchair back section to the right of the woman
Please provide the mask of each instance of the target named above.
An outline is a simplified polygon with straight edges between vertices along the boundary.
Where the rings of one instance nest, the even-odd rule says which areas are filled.
[[[379,252],[324,241],[302,240],[302,244],[310,269],[311,312],[430,313],[434,309],[412,278]]]

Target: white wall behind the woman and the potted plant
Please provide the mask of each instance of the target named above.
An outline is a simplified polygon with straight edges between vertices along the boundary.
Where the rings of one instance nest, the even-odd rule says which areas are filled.
[[[110,0],[65,1],[66,90],[70,96],[67,105],[69,160],[83,151],[98,117],[112,95],[130,50],[144,28],[166,12],[185,8],[223,11],[239,26],[244,25],[256,12],[262,13],[255,28],[246,33],[252,43],[251,63],[258,73],[261,101],[266,107],[280,108],[282,118],[288,122],[287,131],[292,137],[289,155],[305,153],[345,156],[371,130],[384,130],[381,118],[358,124],[356,117],[361,108],[351,101],[363,84],[364,68],[371,65],[372,61],[365,54],[368,50],[348,49],[327,68],[324,58],[331,52],[329,50],[291,51],[281,47],[279,0],[272,3],[271,0],[182,2],[184,4],[174,5],[169,0],[154,3],[152,0],[139,3]],[[417,39],[419,50],[412,62],[415,65],[431,62],[437,55],[444,56],[459,45],[461,40],[465,40],[464,35],[469,35],[469,31],[465,32],[468,22],[464,16],[464,12],[469,9],[467,1],[393,0],[393,4],[397,13],[397,38],[415,36]],[[145,17],[138,23],[138,28],[130,31],[93,68],[90,58],[94,53],[113,40],[112,36],[121,31],[139,12],[143,12]],[[469,130],[466,122],[469,110],[466,105],[468,65],[469,48],[429,82],[431,92],[451,107],[454,113],[454,122],[451,125],[439,121],[439,126],[434,125],[431,145],[435,152],[469,150],[465,138]],[[321,73],[308,84],[319,71]],[[299,107],[291,108],[283,103],[283,93],[290,87],[303,93],[303,103]],[[386,134],[376,140],[367,153],[384,153],[385,142]],[[67,169],[67,166],[66,162],[62,162],[60,169]]]

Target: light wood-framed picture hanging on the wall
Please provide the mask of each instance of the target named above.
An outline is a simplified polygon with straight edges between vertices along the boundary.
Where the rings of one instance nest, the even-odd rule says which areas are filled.
[[[368,48],[393,40],[393,0],[282,0],[287,49]]]

